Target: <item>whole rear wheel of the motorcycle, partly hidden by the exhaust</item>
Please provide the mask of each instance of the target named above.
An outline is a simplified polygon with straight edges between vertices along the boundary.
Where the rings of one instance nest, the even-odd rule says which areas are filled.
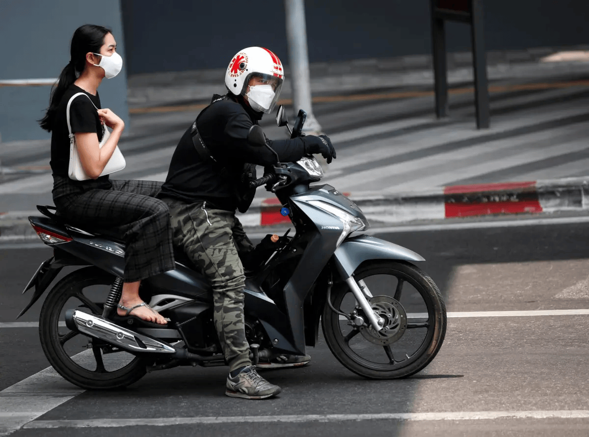
[[[96,267],[75,270],[55,284],[41,309],[39,337],[45,356],[59,375],[84,389],[124,388],[147,373],[141,357],[64,327],[64,313],[73,309],[72,302],[80,303],[79,310],[101,315],[112,282],[114,276]],[[75,353],[79,349],[82,352]]]

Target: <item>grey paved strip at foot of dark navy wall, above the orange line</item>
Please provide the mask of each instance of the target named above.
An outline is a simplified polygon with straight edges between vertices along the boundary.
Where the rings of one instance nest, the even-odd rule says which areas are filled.
[[[548,78],[562,74],[584,73],[587,62],[542,62],[542,59],[561,51],[587,51],[589,45],[575,47],[540,47],[520,51],[487,52],[489,81],[506,78]],[[470,52],[448,54],[448,83],[450,85],[473,80]],[[397,58],[357,59],[348,62],[310,64],[313,96],[330,93],[362,92],[378,88],[433,85],[431,55]],[[132,75],[128,78],[128,104],[132,112],[140,108],[208,102],[213,92],[223,94],[224,68]],[[285,68],[281,97],[292,97],[289,67]]]

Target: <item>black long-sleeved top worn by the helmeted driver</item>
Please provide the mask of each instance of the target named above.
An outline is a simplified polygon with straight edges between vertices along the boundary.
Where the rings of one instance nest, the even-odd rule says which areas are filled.
[[[221,100],[213,97],[213,103],[204,108],[196,119],[198,133],[217,162],[227,171],[220,172],[198,155],[188,127],[178,145],[168,170],[166,182],[158,197],[177,199],[185,203],[207,201],[213,208],[236,210],[231,184],[241,176],[243,164],[273,165],[274,154],[266,147],[250,145],[247,134],[259,115],[241,105],[235,97]],[[305,154],[300,138],[293,140],[268,140],[281,161],[298,161]],[[228,176],[229,175],[229,176]]]

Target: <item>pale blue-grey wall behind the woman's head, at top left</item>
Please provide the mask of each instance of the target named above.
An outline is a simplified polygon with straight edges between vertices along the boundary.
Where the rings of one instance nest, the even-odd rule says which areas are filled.
[[[70,41],[82,24],[111,28],[117,52],[125,58],[118,0],[0,0],[0,80],[57,78],[70,61]],[[0,86],[2,141],[37,140],[51,134],[37,121],[49,105],[51,86]],[[127,73],[104,80],[98,88],[103,107],[128,120]]]

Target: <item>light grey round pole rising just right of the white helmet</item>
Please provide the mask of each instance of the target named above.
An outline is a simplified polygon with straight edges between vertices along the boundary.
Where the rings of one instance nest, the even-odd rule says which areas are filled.
[[[289,49],[290,79],[293,87],[295,114],[302,109],[307,112],[303,131],[319,133],[321,125],[313,115],[309,77],[309,54],[307,53],[307,29],[305,25],[305,0],[284,0],[286,11],[286,39]]]

